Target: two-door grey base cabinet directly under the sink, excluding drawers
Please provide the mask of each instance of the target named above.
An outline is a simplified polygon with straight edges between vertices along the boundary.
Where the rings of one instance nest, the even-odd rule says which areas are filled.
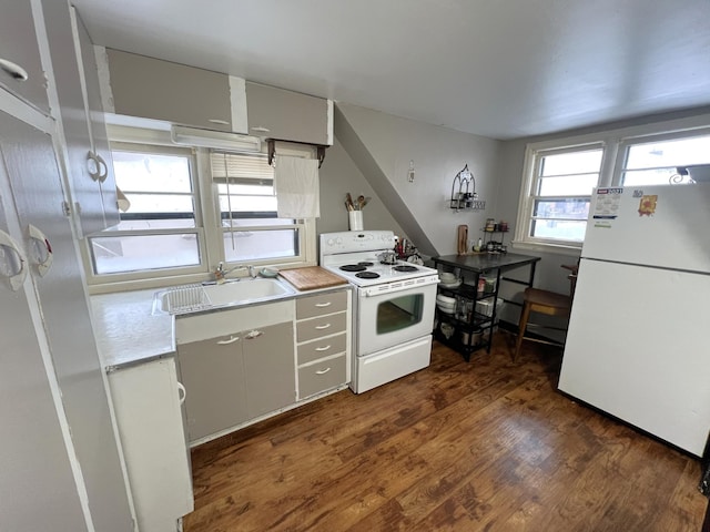
[[[192,444],[296,401],[294,314],[290,299],[175,321]]]

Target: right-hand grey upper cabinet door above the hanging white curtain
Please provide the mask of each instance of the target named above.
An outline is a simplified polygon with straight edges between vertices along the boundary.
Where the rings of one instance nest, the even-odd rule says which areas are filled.
[[[246,83],[248,132],[252,135],[329,145],[328,102],[322,98]]]

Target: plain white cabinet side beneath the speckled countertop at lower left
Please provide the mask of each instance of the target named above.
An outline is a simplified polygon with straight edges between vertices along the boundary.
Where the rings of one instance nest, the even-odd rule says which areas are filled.
[[[175,360],[118,369],[109,386],[139,530],[174,532],[194,508]]]

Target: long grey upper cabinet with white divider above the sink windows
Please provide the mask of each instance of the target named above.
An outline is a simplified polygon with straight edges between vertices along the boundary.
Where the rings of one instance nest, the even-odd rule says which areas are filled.
[[[262,139],[333,144],[333,102],[106,49],[108,112]]]

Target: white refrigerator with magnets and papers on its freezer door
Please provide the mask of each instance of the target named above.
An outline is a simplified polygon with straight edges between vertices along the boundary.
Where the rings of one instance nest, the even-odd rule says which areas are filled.
[[[595,191],[559,390],[702,456],[710,184]]]

